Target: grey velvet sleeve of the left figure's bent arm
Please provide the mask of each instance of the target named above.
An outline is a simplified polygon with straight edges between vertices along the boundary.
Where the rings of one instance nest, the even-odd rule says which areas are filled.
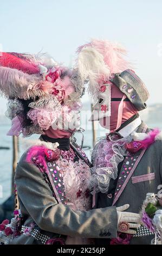
[[[27,163],[25,157],[17,165],[15,182],[20,202],[41,229],[91,238],[117,236],[118,217],[114,206],[74,211],[68,205],[58,204],[43,174],[34,164]]]

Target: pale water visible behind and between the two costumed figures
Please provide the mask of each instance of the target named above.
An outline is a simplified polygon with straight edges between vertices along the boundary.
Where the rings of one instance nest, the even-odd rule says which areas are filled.
[[[159,123],[150,123],[147,120],[148,126],[154,128],[159,127],[162,129],[162,122]],[[82,125],[84,127],[84,124]],[[12,137],[7,136],[7,132],[10,129],[10,122],[7,119],[3,121],[0,118],[0,147],[9,147],[9,150],[2,149],[0,150],[0,204],[6,200],[11,194],[11,176],[12,176]],[[98,137],[104,135],[104,129],[100,129],[97,132]],[[91,147],[92,150],[92,130],[87,130],[84,132],[84,146]],[[27,149],[27,142],[29,139],[37,139],[38,135],[33,135],[29,138],[20,138],[19,145],[20,145],[20,153],[19,157],[23,154],[23,152]],[[77,141],[81,144],[82,135],[77,134]],[[86,150],[86,154],[90,158],[90,151]],[[3,195],[1,194],[1,190],[3,190]]]

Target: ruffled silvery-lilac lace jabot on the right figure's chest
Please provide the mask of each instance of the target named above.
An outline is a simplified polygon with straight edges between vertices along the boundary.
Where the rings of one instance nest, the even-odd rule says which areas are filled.
[[[118,177],[118,164],[124,160],[125,144],[132,141],[132,136],[125,138],[109,135],[108,138],[99,139],[92,151],[92,176],[89,181],[89,189],[94,192],[108,192],[111,179]]]

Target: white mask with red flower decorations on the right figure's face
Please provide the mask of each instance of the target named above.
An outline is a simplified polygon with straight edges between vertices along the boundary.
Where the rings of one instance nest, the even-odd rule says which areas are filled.
[[[99,121],[103,117],[111,116],[111,85],[112,82],[108,81],[100,87],[98,101],[93,106],[89,121]]]

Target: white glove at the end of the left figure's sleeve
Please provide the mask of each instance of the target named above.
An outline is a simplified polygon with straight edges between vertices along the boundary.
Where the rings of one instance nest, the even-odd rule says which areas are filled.
[[[129,229],[127,231],[121,231],[118,227],[118,231],[122,233],[127,233],[127,234],[136,234],[137,232],[133,229],[130,228],[139,228],[140,227],[140,215],[139,214],[134,214],[133,212],[124,212],[129,208],[129,204],[124,204],[120,207],[116,207],[117,215],[118,215],[118,225],[121,221],[128,222],[129,224]]]

